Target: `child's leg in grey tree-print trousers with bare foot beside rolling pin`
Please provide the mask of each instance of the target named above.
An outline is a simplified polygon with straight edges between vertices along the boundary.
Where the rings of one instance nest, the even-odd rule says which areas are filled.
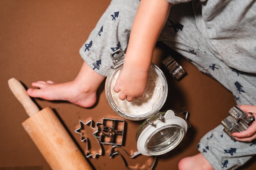
[[[63,84],[34,82],[32,86],[40,89],[29,88],[28,95],[47,100],[66,100],[82,107],[93,106],[99,85],[111,71],[113,60],[110,53],[119,48],[126,50],[138,5],[139,0],[112,0],[80,49],[86,63],[76,79]]]

